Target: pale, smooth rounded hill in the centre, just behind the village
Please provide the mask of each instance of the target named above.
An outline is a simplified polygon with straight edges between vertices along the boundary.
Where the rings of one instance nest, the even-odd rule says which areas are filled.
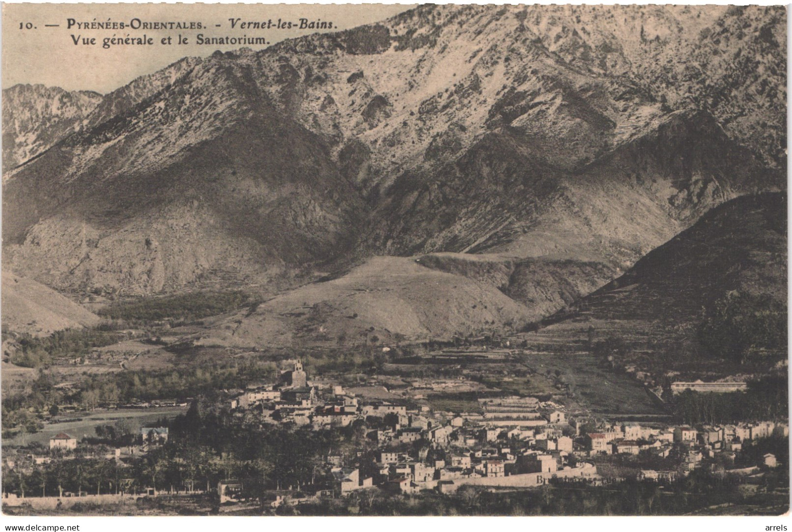
[[[338,279],[221,317],[193,343],[253,348],[451,340],[519,329],[527,317],[524,306],[488,283],[425,268],[409,257],[375,257]]]

